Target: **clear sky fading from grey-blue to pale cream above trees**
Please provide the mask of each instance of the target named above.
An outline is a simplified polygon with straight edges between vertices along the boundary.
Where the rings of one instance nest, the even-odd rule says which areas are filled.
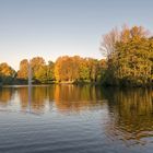
[[[102,35],[122,24],[153,32],[153,0],[0,0],[0,62],[101,59]]]

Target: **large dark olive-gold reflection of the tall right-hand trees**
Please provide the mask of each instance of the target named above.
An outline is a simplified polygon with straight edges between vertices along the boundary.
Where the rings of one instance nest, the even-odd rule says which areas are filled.
[[[109,90],[107,93],[110,113],[106,127],[108,136],[113,140],[131,140],[131,144],[145,144],[144,139],[153,137],[153,91],[130,89]]]

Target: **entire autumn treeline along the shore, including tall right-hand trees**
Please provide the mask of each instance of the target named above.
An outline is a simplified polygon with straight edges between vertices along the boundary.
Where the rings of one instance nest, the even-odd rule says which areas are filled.
[[[153,37],[144,27],[113,28],[103,36],[99,48],[105,59],[62,56],[46,63],[43,57],[34,57],[23,59],[19,71],[0,63],[0,85],[27,84],[31,66],[34,84],[153,86]]]

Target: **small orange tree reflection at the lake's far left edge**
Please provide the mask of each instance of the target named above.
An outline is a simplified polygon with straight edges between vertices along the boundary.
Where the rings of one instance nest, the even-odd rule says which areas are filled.
[[[9,87],[0,87],[0,105],[7,106],[12,99],[14,90]]]

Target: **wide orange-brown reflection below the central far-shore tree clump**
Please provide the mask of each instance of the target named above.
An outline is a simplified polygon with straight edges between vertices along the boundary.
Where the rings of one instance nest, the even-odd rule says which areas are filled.
[[[101,89],[90,85],[57,85],[55,103],[59,110],[79,111],[96,106],[103,98]]]

